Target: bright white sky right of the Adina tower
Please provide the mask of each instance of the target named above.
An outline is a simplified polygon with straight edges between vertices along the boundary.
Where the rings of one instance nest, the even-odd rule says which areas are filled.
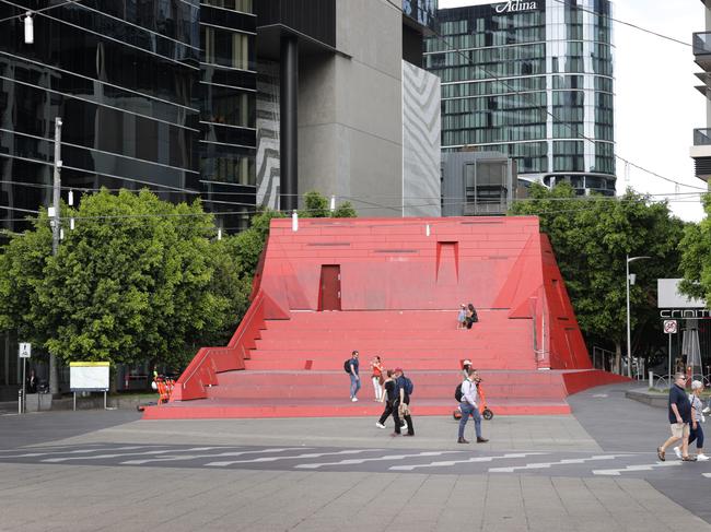
[[[440,0],[440,8],[481,3],[479,0]],[[699,0],[617,0],[614,17],[684,43],[704,31]],[[691,46],[673,43],[623,24],[614,24],[616,154],[649,170],[692,187],[706,184],[693,176],[689,149],[693,129],[704,128],[706,99],[695,88]],[[699,191],[679,187],[629,167],[617,159],[617,192],[629,186],[637,192],[677,194]],[[655,196],[656,198],[656,196]],[[698,196],[675,196],[672,212],[689,222],[703,217]]]

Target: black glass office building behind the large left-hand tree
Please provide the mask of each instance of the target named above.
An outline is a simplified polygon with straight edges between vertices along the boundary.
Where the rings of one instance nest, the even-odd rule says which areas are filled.
[[[34,43],[24,38],[33,15]],[[252,0],[0,0],[0,227],[51,203],[55,120],[62,197],[148,187],[254,210]],[[7,19],[7,20],[5,20]],[[74,194],[77,196],[77,194]],[[234,215],[232,214],[234,213]]]

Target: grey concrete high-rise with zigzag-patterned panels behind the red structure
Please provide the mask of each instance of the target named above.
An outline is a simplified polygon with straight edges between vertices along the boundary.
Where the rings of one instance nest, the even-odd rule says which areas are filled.
[[[436,1],[256,5],[258,202],[318,190],[361,215],[439,215],[440,88],[421,68]]]

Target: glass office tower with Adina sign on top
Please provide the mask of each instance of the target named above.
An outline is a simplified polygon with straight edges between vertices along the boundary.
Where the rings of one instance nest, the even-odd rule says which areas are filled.
[[[443,152],[501,152],[521,178],[614,196],[610,16],[608,0],[440,10],[426,68],[442,80]]]

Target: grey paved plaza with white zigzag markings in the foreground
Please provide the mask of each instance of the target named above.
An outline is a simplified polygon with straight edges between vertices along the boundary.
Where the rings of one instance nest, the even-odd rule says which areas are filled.
[[[711,464],[658,462],[665,411],[625,390],[496,416],[483,445],[446,416],[406,438],[370,418],[0,415],[0,530],[711,530]]]

